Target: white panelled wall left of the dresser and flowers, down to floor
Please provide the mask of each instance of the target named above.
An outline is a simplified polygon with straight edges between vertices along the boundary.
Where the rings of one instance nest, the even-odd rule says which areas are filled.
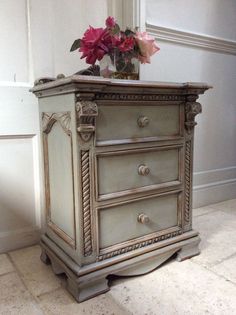
[[[0,252],[38,242],[44,222],[33,81],[87,67],[73,41],[103,25],[106,0],[0,1]]]

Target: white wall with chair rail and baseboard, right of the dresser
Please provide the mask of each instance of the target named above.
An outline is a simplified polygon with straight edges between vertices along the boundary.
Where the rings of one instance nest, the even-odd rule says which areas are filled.
[[[160,36],[161,50],[142,67],[142,78],[213,86],[199,98],[195,207],[236,197],[235,16],[234,0],[146,1],[147,30]]]

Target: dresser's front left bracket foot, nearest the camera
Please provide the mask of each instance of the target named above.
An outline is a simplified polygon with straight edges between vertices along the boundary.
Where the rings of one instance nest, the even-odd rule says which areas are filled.
[[[67,289],[78,302],[83,302],[110,290],[106,278],[88,281],[85,284],[78,282],[79,279],[76,277],[74,279],[71,276],[67,278]]]

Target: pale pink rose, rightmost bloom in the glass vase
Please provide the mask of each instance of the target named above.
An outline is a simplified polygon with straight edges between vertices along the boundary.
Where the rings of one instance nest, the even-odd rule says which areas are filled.
[[[160,50],[155,39],[147,32],[136,32],[135,40],[140,50],[139,60],[141,63],[150,63],[150,57]]]

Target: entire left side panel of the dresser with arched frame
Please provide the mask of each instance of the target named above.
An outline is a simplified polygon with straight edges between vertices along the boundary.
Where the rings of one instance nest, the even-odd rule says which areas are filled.
[[[79,260],[79,183],[74,95],[39,100],[46,233],[65,252]]]

